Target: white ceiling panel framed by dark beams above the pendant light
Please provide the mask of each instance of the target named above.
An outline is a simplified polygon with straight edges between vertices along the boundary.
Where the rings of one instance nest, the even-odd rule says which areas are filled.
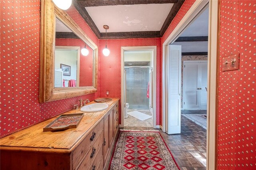
[[[85,7],[101,33],[160,31],[173,4],[138,4]]]

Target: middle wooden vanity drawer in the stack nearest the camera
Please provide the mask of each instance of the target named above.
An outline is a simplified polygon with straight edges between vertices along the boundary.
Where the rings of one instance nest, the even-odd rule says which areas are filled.
[[[92,145],[92,147],[90,148],[88,154],[85,156],[78,170],[85,170],[85,169],[88,169],[88,167],[89,169],[92,168],[90,167],[90,165],[95,160],[96,153],[99,152],[101,155],[103,153],[102,144],[103,144],[103,131],[102,133],[100,133],[100,136],[95,141],[94,145]]]

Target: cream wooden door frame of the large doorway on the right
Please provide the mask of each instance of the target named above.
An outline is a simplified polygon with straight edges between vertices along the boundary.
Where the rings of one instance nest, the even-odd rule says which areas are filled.
[[[218,81],[218,1],[196,0],[182,20],[174,28],[166,41],[162,44],[162,130],[166,131],[166,117],[168,113],[168,96],[166,72],[168,59],[168,45],[174,42],[194,18],[209,4],[208,27],[208,93],[207,93],[207,131],[206,131],[206,170],[216,169],[216,143],[217,143],[217,81]],[[211,120],[211,121],[210,121]]]

